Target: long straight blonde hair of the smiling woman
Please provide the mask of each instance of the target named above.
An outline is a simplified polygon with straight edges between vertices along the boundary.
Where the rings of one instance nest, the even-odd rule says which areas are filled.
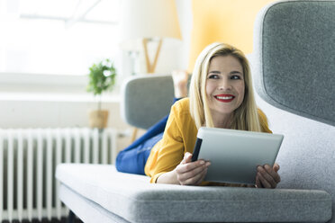
[[[233,113],[231,129],[261,131],[249,62],[240,49],[220,42],[214,42],[207,46],[195,61],[195,69],[190,83],[189,98],[190,112],[192,118],[195,120],[196,128],[199,129],[202,126],[214,127],[212,114],[207,102],[206,81],[211,59],[218,56],[232,56],[237,58],[243,67],[245,94],[240,107]]]

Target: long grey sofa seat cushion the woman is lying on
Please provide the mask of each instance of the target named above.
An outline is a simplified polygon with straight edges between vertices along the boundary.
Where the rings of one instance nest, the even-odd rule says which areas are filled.
[[[152,184],[111,165],[61,164],[56,177],[130,222],[326,222],[327,192]]]

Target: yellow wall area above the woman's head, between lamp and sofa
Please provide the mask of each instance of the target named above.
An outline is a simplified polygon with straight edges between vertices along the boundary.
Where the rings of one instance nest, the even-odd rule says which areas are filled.
[[[245,54],[252,52],[253,26],[258,11],[275,0],[193,0],[193,31],[188,71],[205,46],[221,41]]]

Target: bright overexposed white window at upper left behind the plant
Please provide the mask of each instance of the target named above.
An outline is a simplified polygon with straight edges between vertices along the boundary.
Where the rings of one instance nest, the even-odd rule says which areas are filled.
[[[0,0],[0,72],[84,76],[116,60],[120,0]]]

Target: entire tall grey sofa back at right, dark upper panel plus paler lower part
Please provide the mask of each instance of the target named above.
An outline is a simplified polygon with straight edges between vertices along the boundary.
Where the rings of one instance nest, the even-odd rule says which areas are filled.
[[[285,135],[278,186],[329,192],[335,222],[335,1],[268,4],[254,31],[257,103]]]

